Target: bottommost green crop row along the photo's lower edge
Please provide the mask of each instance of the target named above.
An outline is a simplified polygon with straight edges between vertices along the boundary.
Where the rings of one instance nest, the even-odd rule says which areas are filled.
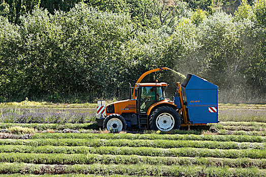
[[[65,174],[83,173],[96,175],[155,175],[155,176],[266,176],[265,169],[229,168],[187,165],[44,165],[30,163],[0,163],[1,173]]]

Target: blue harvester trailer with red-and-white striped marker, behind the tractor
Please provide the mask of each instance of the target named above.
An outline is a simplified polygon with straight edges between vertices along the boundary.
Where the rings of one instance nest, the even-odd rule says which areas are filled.
[[[218,86],[188,73],[182,84],[177,83],[174,103],[182,110],[183,124],[218,123]]]

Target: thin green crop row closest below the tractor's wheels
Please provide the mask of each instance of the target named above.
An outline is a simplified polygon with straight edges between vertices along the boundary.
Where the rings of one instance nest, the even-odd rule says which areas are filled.
[[[128,140],[190,140],[219,142],[266,142],[266,137],[245,135],[157,135],[157,134],[35,134],[32,139],[128,139]]]

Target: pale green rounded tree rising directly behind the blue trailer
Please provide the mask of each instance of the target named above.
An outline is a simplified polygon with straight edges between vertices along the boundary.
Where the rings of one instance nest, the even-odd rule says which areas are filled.
[[[243,84],[241,72],[254,52],[243,37],[252,34],[252,22],[236,23],[230,15],[215,13],[198,26],[197,33],[202,47],[195,53],[204,66],[201,75],[228,90]]]

